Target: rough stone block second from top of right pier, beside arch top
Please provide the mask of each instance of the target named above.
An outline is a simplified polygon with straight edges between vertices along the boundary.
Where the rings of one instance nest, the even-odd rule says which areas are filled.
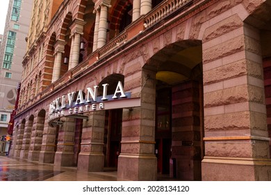
[[[244,49],[245,49],[245,38],[244,36],[238,36],[231,40],[222,42],[219,45],[215,45],[210,49],[203,50],[202,58],[204,63],[208,63],[211,61],[215,61],[217,59],[221,59],[225,56],[235,54],[236,52],[241,52]]]

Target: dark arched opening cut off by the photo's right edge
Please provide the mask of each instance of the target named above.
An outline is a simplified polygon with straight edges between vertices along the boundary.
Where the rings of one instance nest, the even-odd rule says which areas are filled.
[[[245,28],[250,33],[245,34],[251,39],[250,42],[247,42],[247,47],[254,45],[255,50],[249,51],[252,52],[255,56],[258,56],[258,59],[250,59],[249,66],[252,64],[254,67],[262,67],[263,75],[261,72],[254,72],[254,77],[257,79],[263,79],[264,81],[264,93],[265,93],[265,107],[266,107],[266,118],[267,118],[267,130],[268,137],[271,139],[271,1],[265,1],[261,4],[254,4],[249,8],[248,17],[245,18]],[[253,33],[252,33],[253,32]],[[247,38],[248,40],[248,38]],[[250,44],[250,45],[249,45]],[[249,49],[249,48],[248,48]],[[247,60],[248,61],[248,60]],[[265,116],[262,116],[265,118]],[[264,123],[263,123],[264,124]],[[269,141],[269,155],[271,156],[271,142]]]

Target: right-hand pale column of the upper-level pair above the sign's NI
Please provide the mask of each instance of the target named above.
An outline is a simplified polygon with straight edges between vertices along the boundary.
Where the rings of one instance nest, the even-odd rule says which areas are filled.
[[[101,3],[97,49],[106,45],[108,7],[106,4]]]

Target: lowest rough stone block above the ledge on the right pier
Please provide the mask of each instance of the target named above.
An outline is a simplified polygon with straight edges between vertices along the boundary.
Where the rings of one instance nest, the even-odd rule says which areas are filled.
[[[249,111],[240,111],[237,113],[220,114],[214,116],[205,116],[205,131],[214,130],[242,130],[250,128]],[[215,132],[214,132],[215,134]],[[221,134],[218,135],[219,137]]]

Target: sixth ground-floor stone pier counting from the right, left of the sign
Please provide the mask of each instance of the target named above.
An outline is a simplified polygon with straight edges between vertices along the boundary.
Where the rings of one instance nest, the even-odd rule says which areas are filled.
[[[31,143],[29,147],[28,160],[38,161],[40,157],[40,150],[42,148],[42,134],[44,129],[44,116],[37,116],[34,118]]]

